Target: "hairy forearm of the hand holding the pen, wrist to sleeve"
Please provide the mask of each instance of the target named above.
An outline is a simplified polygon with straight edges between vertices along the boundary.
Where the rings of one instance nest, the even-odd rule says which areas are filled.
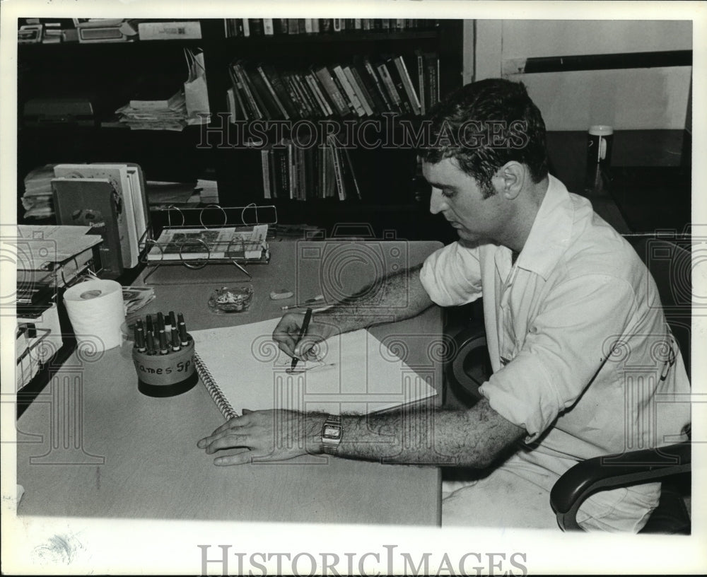
[[[432,305],[420,281],[421,267],[420,264],[374,281],[317,317],[336,325],[341,332],[349,332],[419,315]]]

